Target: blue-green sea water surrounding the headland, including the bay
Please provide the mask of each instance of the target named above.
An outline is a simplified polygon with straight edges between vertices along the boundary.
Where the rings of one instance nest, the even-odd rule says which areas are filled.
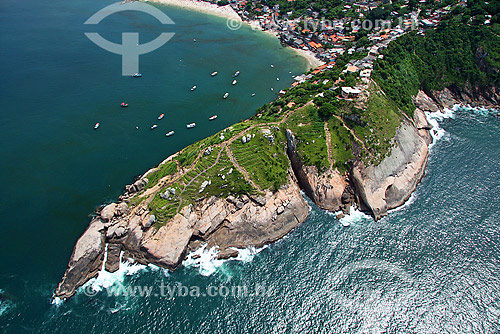
[[[141,56],[143,78],[122,78],[120,57],[83,36],[82,23],[109,3],[0,4],[2,332],[499,329],[500,120],[467,109],[440,121],[444,135],[410,203],[378,222],[355,212],[345,228],[311,204],[305,223],[257,254],[219,262],[205,253],[173,273],[124,266],[52,305],[52,291],[96,206],[170,153],[253,114],[273,99],[270,87],[286,87],[289,71],[305,70],[303,59],[267,35],[232,32],[224,19],[164,8],[176,22],[168,27],[174,39]],[[161,28],[142,14],[116,15],[96,28],[115,41],[123,26],[145,40]],[[211,78],[215,70],[219,75]],[[242,74],[232,87],[236,70]],[[198,90],[191,93],[194,84]],[[125,99],[130,107],[122,110]],[[157,122],[160,113],[165,119]],[[209,124],[214,113],[219,119]],[[187,131],[191,121],[198,126]],[[101,122],[98,131],[95,122]],[[159,128],[149,130],[155,122]],[[170,129],[176,135],[167,139]],[[261,293],[170,298],[159,295],[162,284],[202,293],[238,286],[252,293],[258,286]],[[153,292],[108,296],[136,286]]]

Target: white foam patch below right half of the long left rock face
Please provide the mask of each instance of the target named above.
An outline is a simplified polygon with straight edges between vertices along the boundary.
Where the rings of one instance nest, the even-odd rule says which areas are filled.
[[[228,261],[252,261],[255,255],[260,253],[265,248],[267,248],[267,245],[260,248],[234,248],[238,251],[237,257],[229,259],[218,259],[217,256],[219,252],[217,248],[212,247],[207,249],[207,245],[205,244],[196,251],[189,253],[186,260],[184,260],[182,264],[186,268],[198,268],[198,272],[202,276],[210,276],[217,272],[217,270]]]

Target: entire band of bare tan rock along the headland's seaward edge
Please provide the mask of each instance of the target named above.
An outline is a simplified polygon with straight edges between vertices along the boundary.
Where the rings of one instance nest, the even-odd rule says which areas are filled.
[[[354,205],[375,219],[383,217],[388,210],[404,204],[424,175],[432,140],[424,112],[438,111],[456,102],[450,91],[435,95],[439,100],[419,92],[414,118],[402,120],[391,153],[377,166],[366,166],[358,160],[344,175],[332,168],[319,173],[315,167],[303,165],[294,134],[286,130],[284,149],[291,166],[286,185],[261,195],[205,198],[185,206],[162,226],[156,224],[156,217],[148,209],[149,201],[138,205],[130,202],[139,192],[159,191],[155,187],[144,191],[148,176],[156,168],[148,171],[126,187],[118,203],[106,205],[91,221],[76,243],[55,296],[71,297],[79,286],[95,277],[102,267],[106,245],[105,268],[113,272],[119,268],[122,252],[125,260],[173,270],[187,252],[203,245],[216,247],[220,258],[228,258],[236,256],[238,249],[278,240],[307,218],[309,207],[301,189],[323,209],[347,213]]]

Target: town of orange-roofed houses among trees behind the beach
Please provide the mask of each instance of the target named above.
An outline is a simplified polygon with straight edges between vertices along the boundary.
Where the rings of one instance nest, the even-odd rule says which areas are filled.
[[[420,0],[424,4],[425,0]],[[408,1],[406,1],[408,3]],[[343,17],[332,20],[324,18],[327,9],[319,11],[311,6],[304,15],[297,16],[293,10],[282,13],[280,5],[269,7],[255,5],[251,0],[231,0],[228,4],[238,13],[242,20],[249,22],[253,27],[271,32],[278,36],[283,45],[303,50],[313,54],[323,65],[307,75],[295,78],[296,86],[313,75],[333,68],[339,56],[363,54],[361,59],[351,60],[344,69],[344,73],[357,73],[366,83],[371,75],[373,63],[388,44],[408,31],[418,30],[425,34],[425,30],[435,27],[440,18],[449,13],[452,6],[448,5],[436,10],[422,10],[418,7],[408,10],[408,4],[401,6],[405,13],[392,11],[389,19],[369,19],[370,12],[380,6],[380,2],[344,2],[341,7]],[[457,5],[465,5],[461,1]],[[487,24],[487,22],[485,22]],[[362,37],[360,37],[362,36]],[[346,87],[342,90],[344,97],[353,97],[360,90]]]

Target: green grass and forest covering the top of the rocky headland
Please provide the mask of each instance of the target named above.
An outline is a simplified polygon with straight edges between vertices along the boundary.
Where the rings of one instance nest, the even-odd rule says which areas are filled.
[[[306,166],[316,166],[323,172],[329,167],[325,121],[331,136],[333,167],[339,172],[348,171],[355,159],[363,159],[366,163],[375,165],[380,163],[390,153],[392,138],[403,112],[413,116],[411,96],[419,89],[460,84],[465,79],[479,83],[500,81],[498,72],[481,74],[471,63],[478,46],[488,53],[486,64],[493,66],[500,63],[498,34],[492,36],[487,33],[490,38],[484,40],[476,36],[483,28],[462,25],[443,29],[429,32],[430,37],[427,38],[408,35],[392,42],[385,58],[375,64],[373,79],[377,84],[370,85],[364,108],[356,106],[354,102],[337,99],[339,88],[329,90],[345,63],[339,60],[340,66],[322,72],[296,88],[288,89],[276,101],[259,108],[252,119],[186,147],[172,161],[160,165],[148,175],[147,189],[154,187],[167,175],[174,176],[175,179],[162,185],[161,191],[154,194],[148,204],[149,209],[163,224],[182,207],[195,203],[198,199],[258,193],[259,189],[252,184],[260,190],[276,191],[288,180],[285,129],[290,129],[296,136],[297,151],[303,163]],[[463,55],[457,56],[450,52],[450,45],[453,44],[462,49]],[[453,67],[457,64],[458,67]],[[472,72],[460,72],[467,66],[472,66]],[[456,71],[460,73],[457,74]],[[330,82],[323,84],[323,80]],[[324,96],[316,97],[319,93]],[[312,100],[317,106],[331,103],[335,107],[335,115],[342,121],[334,115],[327,119],[321,118],[315,105],[302,108]],[[295,105],[292,106],[292,102]],[[286,121],[276,124],[283,121],[285,115],[288,115]],[[248,129],[251,126],[254,128]],[[273,141],[266,138],[268,135],[263,133],[263,129],[272,133]],[[351,131],[357,138],[353,137]],[[246,144],[241,142],[242,132],[252,136]],[[234,141],[228,145],[229,139]],[[201,153],[209,147],[213,149],[210,154]],[[231,162],[226,151],[228,148],[253,183],[247,182]],[[201,185],[208,180],[211,183],[201,191]],[[166,189],[175,189],[175,195],[171,194],[167,199],[161,198],[159,194],[165,193]],[[137,204],[143,200],[145,197],[139,194],[131,202]]]

